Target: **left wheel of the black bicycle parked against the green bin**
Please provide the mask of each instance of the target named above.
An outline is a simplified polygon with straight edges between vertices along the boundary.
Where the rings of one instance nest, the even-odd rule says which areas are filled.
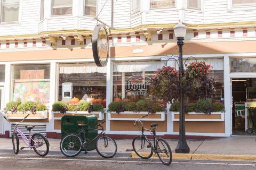
[[[77,156],[81,150],[82,140],[76,134],[66,134],[60,141],[60,151],[67,157]]]

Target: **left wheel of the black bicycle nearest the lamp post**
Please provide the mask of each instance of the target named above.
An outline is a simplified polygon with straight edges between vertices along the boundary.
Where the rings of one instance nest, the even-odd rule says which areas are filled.
[[[141,145],[140,149],[143,149],[145,147],[149,148],[150,146],[150,152],[149,154],[147,154],[147,156],[145,156],[145,154],[142,154],[141,152],[139,152],[139,150],[137,150],[135,148],[135,142],[136,141],[141,141],[141,143],[139,143]],[[147,145],[145,146],[145,142],[147,142]],[[143,147],[142,147],[143,146]],[[137,137],[135,137],[133,140],[132,140],[132,148],[135,152],[135,154],[137,154],[140,158],[142,159],[148,159],[150,158],[152,155],[153,155],[153,148],[152,146],[150,145],[150,143],[146,140],[145,137],[143,137],[142,135],[138,135]],[[147,152],[148,153],[148,152]]]

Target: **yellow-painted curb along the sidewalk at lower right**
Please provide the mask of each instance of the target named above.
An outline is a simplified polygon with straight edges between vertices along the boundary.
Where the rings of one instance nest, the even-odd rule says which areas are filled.
[[[141,154],[149,155],[149,153],[141,153]],[[131,157],[132,158],[140,158],[137,154],[135,154],[135,152],[132,152]],[[256,155],[172,154],[172,158],[173,159],[188,159],[188,160],[248,160],[248,161],[255,161]]]

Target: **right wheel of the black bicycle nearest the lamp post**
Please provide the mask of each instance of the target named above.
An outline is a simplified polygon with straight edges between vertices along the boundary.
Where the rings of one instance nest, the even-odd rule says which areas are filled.
[[[168,142],[162,138],[158,138],[156,142],[157,156],[164,165],[172,163],[172,151]]]

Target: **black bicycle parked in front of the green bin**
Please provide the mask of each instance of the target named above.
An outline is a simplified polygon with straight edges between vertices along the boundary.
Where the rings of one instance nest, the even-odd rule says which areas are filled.
[[[77,134],[69,133],[61,139],[60,150],[62,154],[67,157],[74,157],[77,156],[82,149],[84,149],[85,153],[87,153],[87,148],[95,141],[95,148],[100,156],[104,158],[114,157],[117,151],[116,141],[106,135],[105,130],[102,127],[104,122],[98,124],[93,129],[88,128],[87,124],[78,124],[80,129]],[[98,129],[98,127],[100,127],[100,129]],[[85,138],[87,130],[96,130],[102,132],[98,134],[97,137],[95,137],[92,141],[89,141],[89,139]],[[82,140],[82,135],[85,141]]]

